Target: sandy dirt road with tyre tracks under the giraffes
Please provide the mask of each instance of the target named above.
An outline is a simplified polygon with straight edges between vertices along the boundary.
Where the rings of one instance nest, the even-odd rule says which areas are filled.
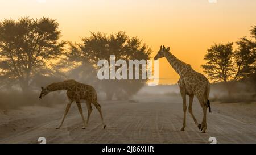
[[[64,104],[57,110],[47,110],[46,114],[10,120],[0,125],[0,143],[38,143],[38,137],[42,136],[47,143],[209,143],[212,136],[217,143],[256,143],[256,118],[241,116],[239,110],[230,112],[232,104],[213,103],[213,113],[207,115],[207,133],[200,133],[189,114],[185,131],[180,131],[183,110],[179,97],[160,100],[144,97],[142,100],[100,102],[108,125],[106,129],[95,108],[89,126],[81,129],[82,121],[75,104],[59,130],[55,127],[60,122]],[[86,116],[85,105],[83,110]],[[203,114],[196,100],[193,111],[201,122]]]

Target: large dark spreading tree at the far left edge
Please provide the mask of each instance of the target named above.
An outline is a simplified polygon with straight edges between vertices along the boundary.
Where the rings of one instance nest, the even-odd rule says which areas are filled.
[[[64,41],[56,20],[50,18],[0,22],[0,77],[27,90],[36,73],[46,74],[52,59],[62,54]],[[2,80],[3,81],[3,80]]]

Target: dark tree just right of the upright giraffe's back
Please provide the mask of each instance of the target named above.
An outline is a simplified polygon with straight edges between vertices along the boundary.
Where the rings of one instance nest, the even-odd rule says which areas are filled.
[[[207,50],[204,60],[207,61],[202,65],[204,72],[214,82],[227,82],[232,79],[233,61],[233,43],[215,44]]]

